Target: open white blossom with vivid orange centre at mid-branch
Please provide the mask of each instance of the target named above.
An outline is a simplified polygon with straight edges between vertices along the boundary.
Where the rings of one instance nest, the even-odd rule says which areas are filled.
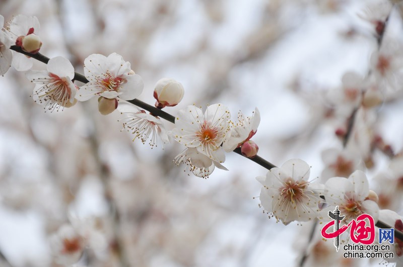
[[[222,163],[225,154],[221,144],[228,133],[230,116],[228,108],[221,104],[209,106],[205,114],[197,107],[187,106],[178,112],[172,135],[184,146],[196,148],[198,153]]]

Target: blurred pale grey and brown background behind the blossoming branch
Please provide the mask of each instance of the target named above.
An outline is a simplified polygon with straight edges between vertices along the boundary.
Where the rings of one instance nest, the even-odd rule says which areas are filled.
[[[257,107],[259,155],[277,166],[301,158],[313,180],[324,167],[321,151],[341,147],[334,124],[323,119],[323,95],[341,86],[347,70],[368,72],[377,43],[357,15],[374,2],[3,0],[0,14],[6,21],[36,16],[40,52],[68,58],[79,73],[92,53],[122,55],[143,77],[139,99],[146,103],[154,104],[160,78],[180,81],[185,96],[165,109],[170,114],[222,103],[236,120],[239,110],[250,116]],[[393,13],[390,25],[401,35],[399,20]],[[118,112],[99,114],[96,99],[45,113],[30,97],[32,84],[13,68],[0,78],[0,90],[1,266],[5,259],[58,266],[49,236],[72,214],[92,218],[108,243],[103,252],[89,248],[79,266],[299,264],[306,230],[268,219],[254,199],[263,167],[229,153],[229,171],[201,179],[172,162],[183,149],[178,143],[150,149],[132,142],[120,131]],[[403,147],[400,104],[379,111],[379,131],[395,151]],[[377,162],[371,171],[386,165],[382,157]]]

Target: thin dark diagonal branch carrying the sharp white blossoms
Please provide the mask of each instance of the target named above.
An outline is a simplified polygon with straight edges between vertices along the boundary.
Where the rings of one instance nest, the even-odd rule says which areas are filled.
[[[42,55],[41,53],[31,54],[31,53],[23,51],[21,49],[21,47],[18,47],[16,45],[12,45],[10,47],[10,49],[14,50],[14,51],[16,51],[18,53],[30,56],[30,57],[32,57],[32,58],[34,58],[34,59],[36,59],[38,61],[41,61],[41,62],[43,62],[45,64],[47,64],[49,62],[49,58],[44,56],[44,55]],[[80,73],[77,73],[77,72],[75,72],[74,80],[78,80],[78,81],[81,81],[83,83],[89,82],[88,79],[84,75],[82,75]],[[169,113],[166,113],[165,111],[162,111],[161,109],[157,109],[156,107],[153,107],[153,106],[151,106],[151,105],[149,105],[147,103],[144,103],[141,100],[133,99],[133,100],[130,100],[128,102],[130,102],[131,104],[136,105],[136,106],[138,106],[138,107],[140,107],[142,109],[145,109],[145,110],[149,111],[150,113],[154,114],[155,116],[161,117],[161,118],[163,118],[163,119],[165,119],[165,120],[167,120],[167,121],[169,121],[171,123],[175,123],[175,117],[174,116],[172,116]],[[355,114],[352,117],[355,117]],[[346,140],[346,143],[347,143],[347,140]],[[233,152],[245,157],[244,155],[242,155],[242,152],[241,152],[240,148],[234,149]],[[245,158],[247,158],[249,160],[252,160],[253,162],[259,164],[260,166],[262,166],[262,167],[264,167],[266,169],[271,169],[271,168],[276,167],[276,165],[272,164],[271,162],[268,162],[267,160],[265,160],[264,158],[262,158],[262,157],[260,157],[258,155],[256,155],[254,158],[248,158],[248,157],[245,157]],[[379,227],[379,225],[384,226],[384,228],[392,228],[392,227],[388,226],[387,224],[385,224],[385,223],[383,223],[381,221],[378,221],[376,223],[376,226]],[[398,239],[403,241],[403,232],[395,229],[394,233],[395,233],[396,238],[398,238]]]

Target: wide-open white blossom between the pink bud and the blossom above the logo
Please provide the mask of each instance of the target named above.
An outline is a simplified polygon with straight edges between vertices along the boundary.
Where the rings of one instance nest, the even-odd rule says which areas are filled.
[[[256,177],[263,187],[260,202],[264,210],[285,225],[292,221],[311,221],[319,213],[318,184],[308,182],[309,165],[301,159],[287,160],[280,168],[270,169],[266,176]]]

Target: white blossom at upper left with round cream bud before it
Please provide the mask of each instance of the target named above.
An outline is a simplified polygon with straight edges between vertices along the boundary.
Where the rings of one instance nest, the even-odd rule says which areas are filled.
[[[9,27],[6,28],[10,38],[14,44],[20,46],[23,50],[36,53],[39,51],[42,43],[37,36],[40,29],[39,21],[34,16],[18,15],[16,16]],[[28,39],[24,39],[27,37]],[[39,42],[38,42],[39,40]],[[12,66],[18,71],[26,71],[32,67],[32,59],[26,55],[13,52]]]

